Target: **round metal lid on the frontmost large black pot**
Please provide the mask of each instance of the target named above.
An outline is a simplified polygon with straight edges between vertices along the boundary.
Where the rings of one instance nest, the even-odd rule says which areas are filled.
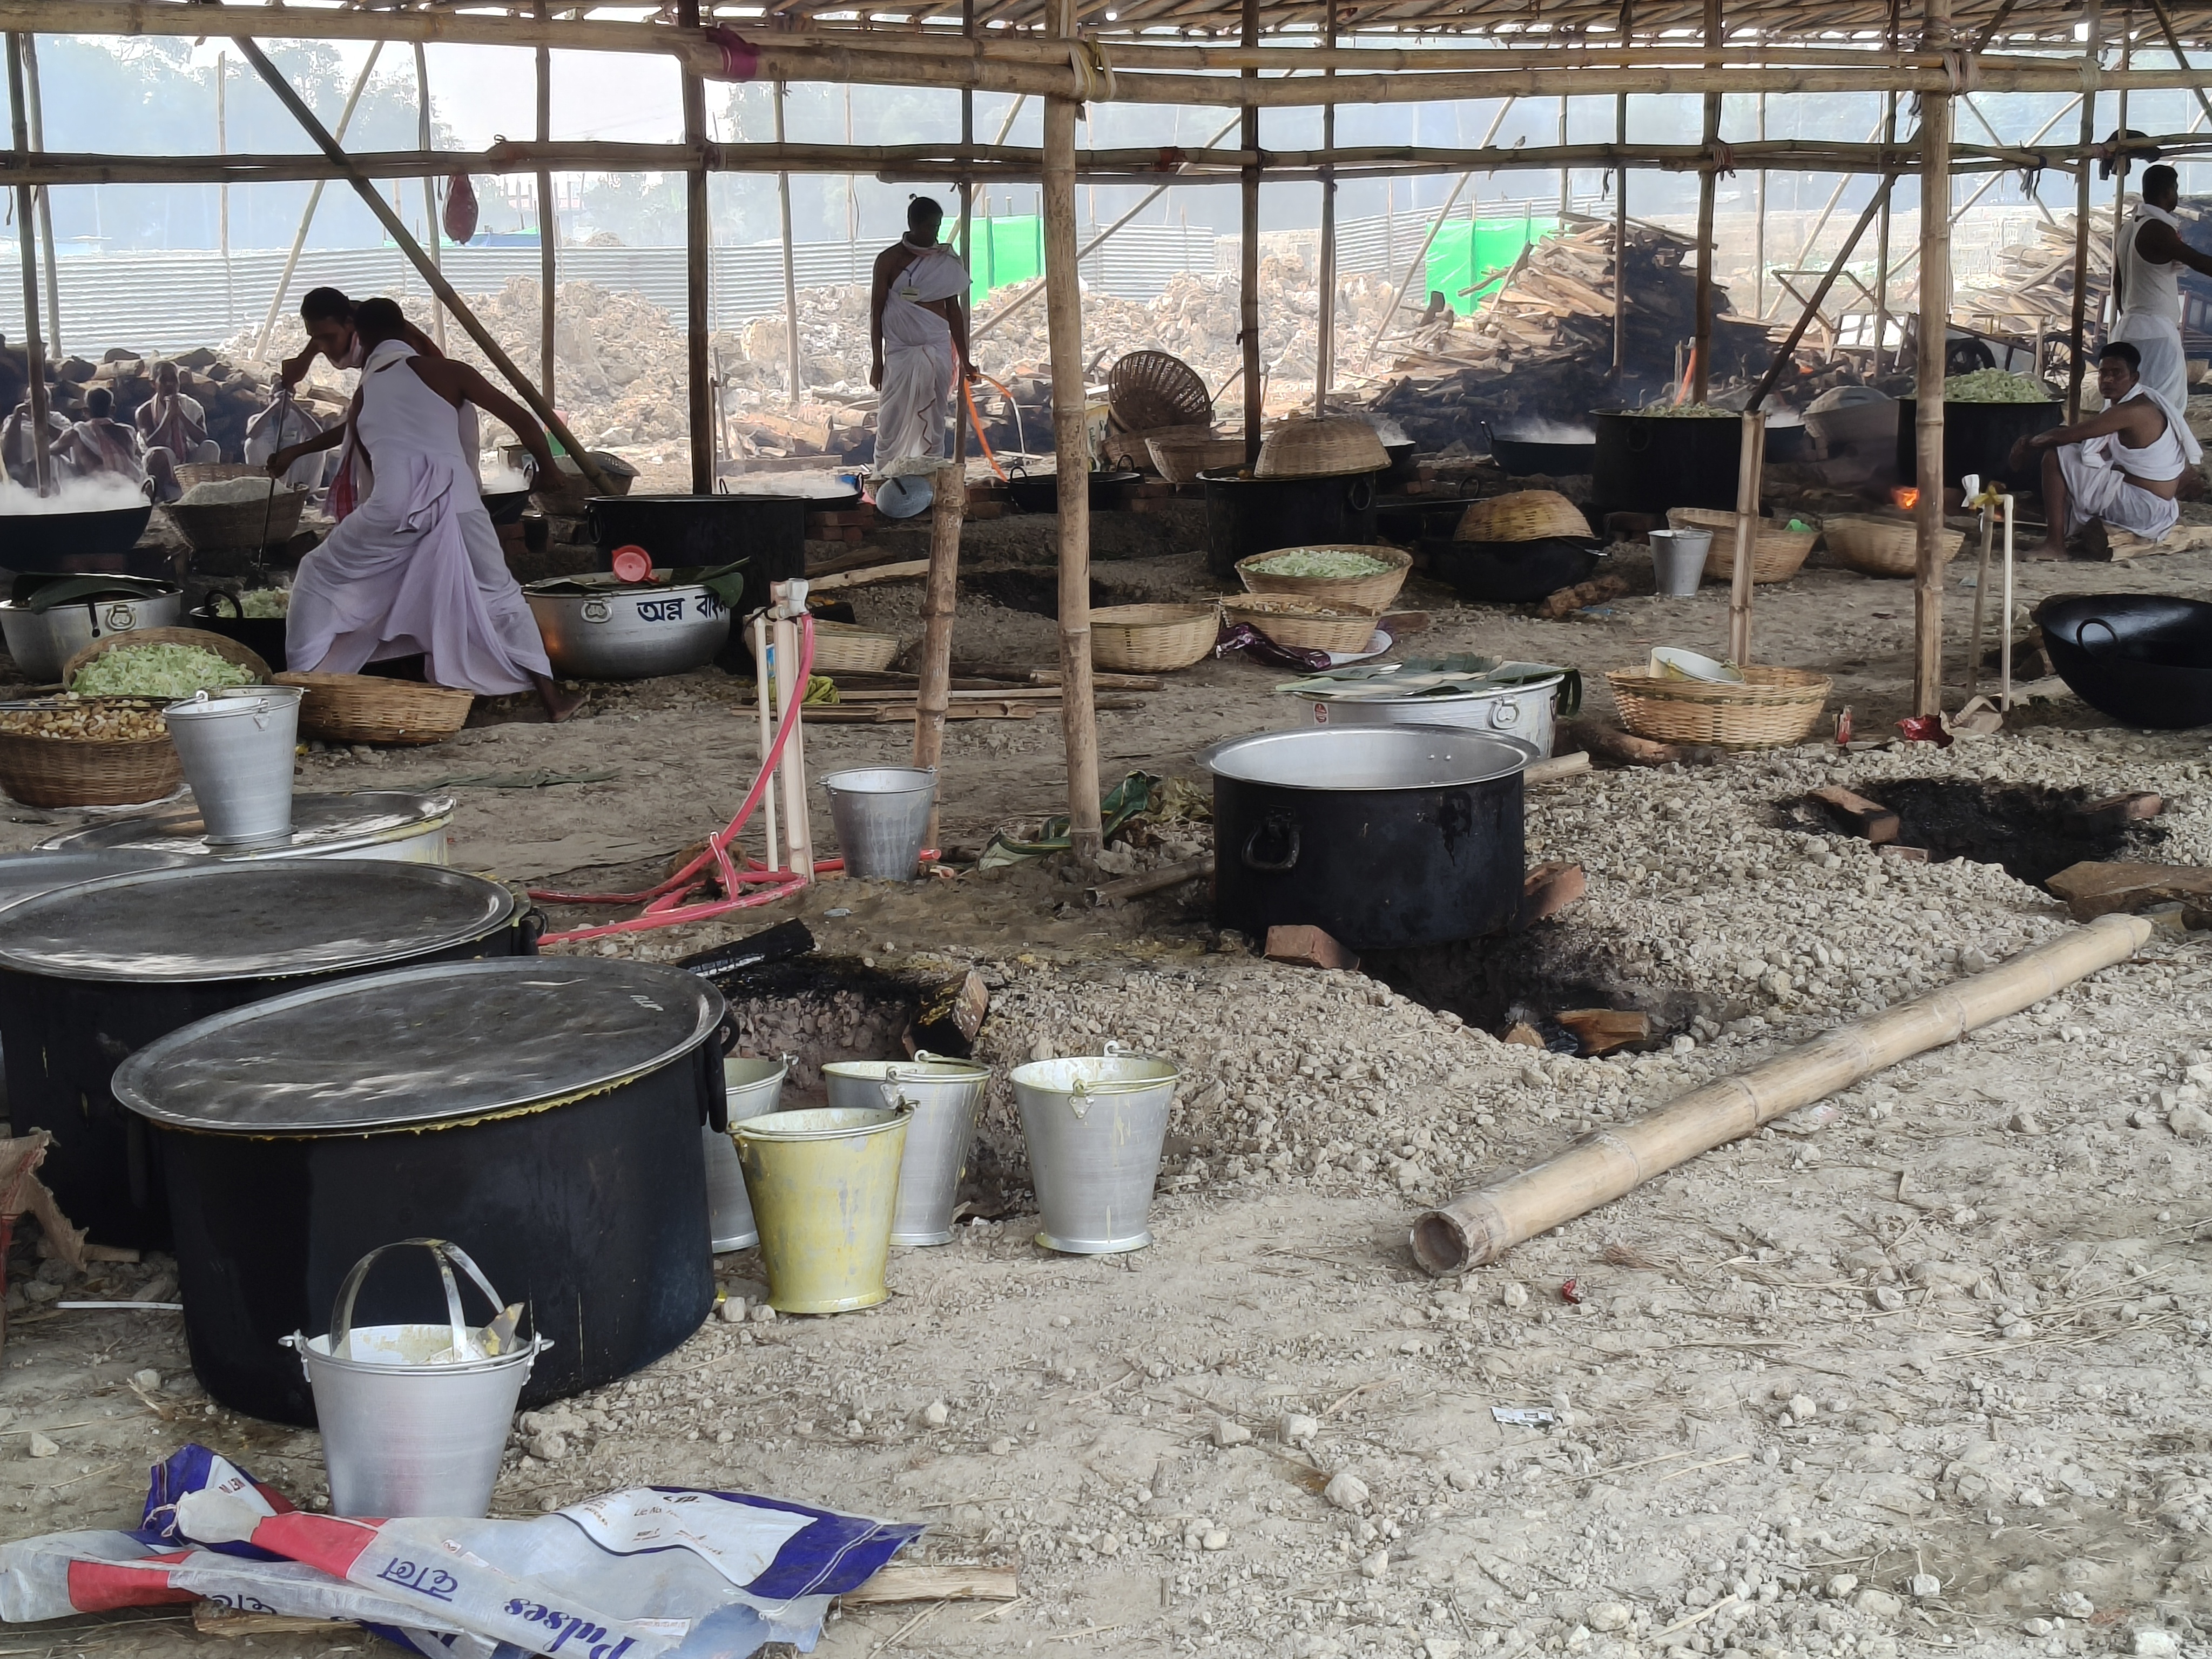
[[[332,980],[139,1048],[115,1099],[237,1135],[425,1128],[557,1106],[712,1037],[721,993],[655,962],[509,956]]]

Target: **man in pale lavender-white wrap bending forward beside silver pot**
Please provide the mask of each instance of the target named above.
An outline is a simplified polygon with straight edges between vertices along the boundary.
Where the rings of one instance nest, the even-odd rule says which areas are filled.
[[[425,677],[484,697],[538,690],[546,714],[568,719],[582,695],[553,684],[553,664],[522,588],[507,568],[460,447],[460,405],[513,427],[540,471],[546,436],[482,374],[422,358],[389,299],[354,314],[363,343],[354,442],[376,467],[376,489],[301,560],[285,626],[294,672],[354,675],[372,661],[420,653]],[[290,465],[270,456],[270,471]]]

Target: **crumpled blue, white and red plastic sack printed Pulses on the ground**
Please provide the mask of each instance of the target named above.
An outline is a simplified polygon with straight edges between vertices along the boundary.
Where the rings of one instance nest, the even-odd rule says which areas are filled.
[[[830,1597],[918,1533],[686,1486],[533,1520],[338,1520],[184,1447],[155,1469],[139,1531],[0,1546],[0,1619],[210,1599],[352,1619],[438,1659],[748,1659],[812,1648]]]

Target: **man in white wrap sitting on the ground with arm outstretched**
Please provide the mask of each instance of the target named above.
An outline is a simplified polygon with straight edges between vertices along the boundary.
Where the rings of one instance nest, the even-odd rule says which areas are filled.
[[[2011,471],[2022,471],[2028,456],[2044,458],[2051,529],[2028,557],[2066,557],[2066,538],[2090,520],[2154,542],[2181,518],[2177,498],[2197,493],[2192,469],[2203,449],[2181,409],[2141,383],[2141,363],[2130,341],[2112,341],[2097,358],[2104,411],[2013,445]]]

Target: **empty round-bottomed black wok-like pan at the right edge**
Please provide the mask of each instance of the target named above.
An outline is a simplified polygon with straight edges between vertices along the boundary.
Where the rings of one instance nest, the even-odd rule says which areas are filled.
[[[2212,726],[2212,604],[2166,593],[2073,593],[2035,613],[2075,697],[2124,726]]]

